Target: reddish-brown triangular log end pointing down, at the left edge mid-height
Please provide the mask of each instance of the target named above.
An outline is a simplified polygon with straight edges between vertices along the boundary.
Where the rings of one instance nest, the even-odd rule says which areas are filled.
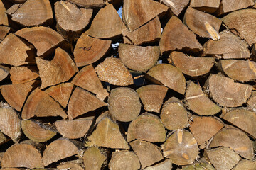
[[[32,91],[36,81],[29,81],[25,84],[9,84],[1,86],[1,94],[4,99],[17,111],[21,111],[28,93]]]

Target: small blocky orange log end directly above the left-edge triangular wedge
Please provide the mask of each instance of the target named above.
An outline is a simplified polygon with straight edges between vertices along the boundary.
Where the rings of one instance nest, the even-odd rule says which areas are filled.
[[[11,67],[10,79],[12,84],[24,84],[39,77],[36,67]]]

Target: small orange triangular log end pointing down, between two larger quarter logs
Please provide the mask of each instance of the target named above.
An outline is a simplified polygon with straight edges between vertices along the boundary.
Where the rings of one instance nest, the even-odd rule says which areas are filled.
[[[51,96],[55,101],[58,101],[58,103],[65,108],[68,105],[73,87],[74,85],[71,83],[58,84],[46,89],[46,94]]]

